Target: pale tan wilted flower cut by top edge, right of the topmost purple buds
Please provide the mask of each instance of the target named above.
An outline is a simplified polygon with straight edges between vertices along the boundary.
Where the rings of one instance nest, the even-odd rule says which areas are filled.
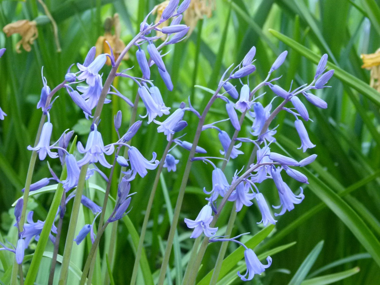
[[[199,19],[203,16],[211,17],[213,10],[215,10],[215,0],[192,0],[184,13],[185,24],[190,27],[188,35],[193,32]]]

